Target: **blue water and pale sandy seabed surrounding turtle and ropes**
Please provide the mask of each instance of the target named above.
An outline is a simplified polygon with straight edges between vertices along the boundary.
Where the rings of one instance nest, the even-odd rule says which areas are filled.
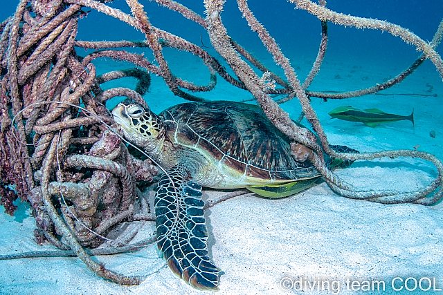
[[[201,26],[154,1],[140,2],[145,6],[153,26],[204,46],[210,55],[221,61]],[[179,2],[204,16],[202,1]],[[12,15],[17,3],[3,0],[0,19]],[[107,4],[130,14],[123,0]],[[248,5],[291,60],[298,78],[303,81],[318,53],[320,21],[287,1],[250,0]],[[443,1],[440,0],[331,0],[327,2],[327,8],[396,23],[427,41],[431,41],[443,18]],[[89,8],[83,10],[88,11]],[[230,37],[284,77],[282,69],[275,65],[257,34],[242,18],[236,1],[226,1],[221,18]],[[381,84],[408,68],[420,54],[399,37],[379,30],[359,30],[328,23],[328,34],[326,56],[320,72],[308,88],[310,91],[354,91]],[[77,39],[114,41],[144,40],[145,37],[126,23],[91,11],[87,17],[80,19]],[[442,48],[442,45],[436,48],[440,55]],[[78,48],[77,53],[84,56],[92,51]],[[154,60],[148,48],[133,51],[144,51],[148,59]],[[209,71],[201,59],[172,48],[165,48],[164,54],[174,75],[197,85],[208,84]],[[132,67],[110,59],[97,59],[93,63],[98,75]],[[226,63],[224,65],[228,69]],[[135,85],[135,79],[123,78],[107,82],[102,88],[134,88]],[[221,77],[217,77],[213,91],[196,95],[211,100],[254,102],[251,93],[231,86]],[[184,102],[170,92],[163,79],[154,75],[150,92],[144,97],[156,112]],[[431,61],[425,61],[403,82],[375,95],[329,99],[326,102],[313,97],[311,104],[331,144],[345,144],[362,152],[417,149],[443,159],[442,97],[442,77]],[[112,99],[107,107],[112,109],[123,99]],[[331,119],[329,111],[338,106],[379,108],[397,115],[410,115],[414,111],[415,124],[404,120],[371,128],[360,122]],[[294,120],[301,111],[297,99],[282,104],[282,108]],[[302,123],[309,124],[305,120]],[[435,136],[431,136],[431,131]],[[403,158],[356,162],[350,169],[338,173],[359,189],[400,191],[423,187],[437,175],[428,162]],[[217,192],[210,191],[204,195],[208,199],[214,196]],[[30,216],[30,209],[27,204],[17,202],[17,205],[19,210],[15,216],[0,214],[0,231],[3,233],[0,236],[1,254],[52,249],[33,242],[35,222]],[[395,292],[388,284],[392,278],[419,279],[426,276],[435,278],[437,287],[443,288],[441,203],[424,207],[351,200],[336,195],[323,183],[291,198],[264,200],[246,196],[223,202],[209,211],[212,257],[225,272],[221,276],[218,294],[306,294],[282,289],[279,284],[284,276],[303,276],[311,280],[320,277],[379,279],[386,281],[386,293],[392,294],[410,294],[405,289]],[[153,226],[136,238],[141,239],[143,234],[148,235],[152,231]],[[99,258],[107,267],[118,272],[146,276],[140,286],[121,287],[102,280],[89,272],[77,258],[33,258],[0,261],[0,294],[201,294],[175,277],[164,260],[157,256],[155,248]],[[341,294],[370,294],[365,290],[348,291],[341,290]],[[426,294],[433,292],[442,293],[431,288]]]

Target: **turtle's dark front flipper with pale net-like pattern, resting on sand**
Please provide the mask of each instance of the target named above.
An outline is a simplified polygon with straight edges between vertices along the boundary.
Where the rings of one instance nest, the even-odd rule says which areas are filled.
[[[201,186],[176,166],[163,174],[155,198],[157,246],[174,274],[196,289],[218,290],[220,269],[208,257]]]

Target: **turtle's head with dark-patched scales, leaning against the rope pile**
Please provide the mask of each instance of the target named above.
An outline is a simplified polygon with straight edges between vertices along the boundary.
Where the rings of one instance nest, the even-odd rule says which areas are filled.
[[[149,108],[126,100],[112,110],[112,115],[120,124],[126,139],[148,153],[155,153],[163,144],[163,122]]]

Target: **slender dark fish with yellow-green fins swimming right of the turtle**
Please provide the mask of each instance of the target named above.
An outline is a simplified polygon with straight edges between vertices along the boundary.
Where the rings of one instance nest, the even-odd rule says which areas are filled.
[[[378,108],[368,108],[367,110],[361,111],[352,106],[338,106],[338,108],[330,111],[329,115],[345,121],[362,122],[372,128],[381,123],[397,122],[401,120],[409,120],[414,124],[414,111],[408,116],[401,116],[385,113]]]

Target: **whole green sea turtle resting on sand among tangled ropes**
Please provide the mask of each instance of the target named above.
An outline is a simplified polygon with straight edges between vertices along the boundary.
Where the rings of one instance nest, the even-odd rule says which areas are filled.
[[[197,289],[217,290],[220,274],[208,257],[201,187],[266,187],[320,175],[311,150],[291,142],[258,106],[189,102],[156,115],[125,101],[112,114],[127,140],[167,171],[154,201],[157,245],[172,272]]]

